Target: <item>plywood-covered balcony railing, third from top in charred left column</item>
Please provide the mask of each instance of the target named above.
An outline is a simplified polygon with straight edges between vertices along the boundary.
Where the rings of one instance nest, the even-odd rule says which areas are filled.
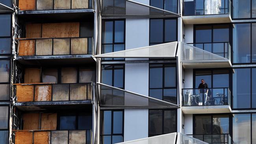
[[[17,102],[92,100],[92,83],[19,83]]]

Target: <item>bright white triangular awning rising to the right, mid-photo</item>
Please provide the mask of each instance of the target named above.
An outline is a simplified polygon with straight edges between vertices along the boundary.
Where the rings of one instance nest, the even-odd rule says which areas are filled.
[[[96,58],[175,58],[178,42],[95,55]]]

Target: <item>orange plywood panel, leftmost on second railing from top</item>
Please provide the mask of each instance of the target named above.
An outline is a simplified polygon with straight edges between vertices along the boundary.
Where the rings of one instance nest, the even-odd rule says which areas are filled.
[[[19,40],[19,56],[35,55],[35,40]]]

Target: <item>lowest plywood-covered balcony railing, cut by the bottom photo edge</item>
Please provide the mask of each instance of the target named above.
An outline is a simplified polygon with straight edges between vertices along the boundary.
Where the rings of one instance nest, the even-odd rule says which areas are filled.
[[[92,130],[18,130],[15,144],[92,144]]]

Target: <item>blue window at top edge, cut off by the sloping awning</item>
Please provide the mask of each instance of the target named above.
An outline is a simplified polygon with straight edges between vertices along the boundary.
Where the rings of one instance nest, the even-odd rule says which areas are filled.
[[[150,0],[150,6],[178,13],[178,0]]]

